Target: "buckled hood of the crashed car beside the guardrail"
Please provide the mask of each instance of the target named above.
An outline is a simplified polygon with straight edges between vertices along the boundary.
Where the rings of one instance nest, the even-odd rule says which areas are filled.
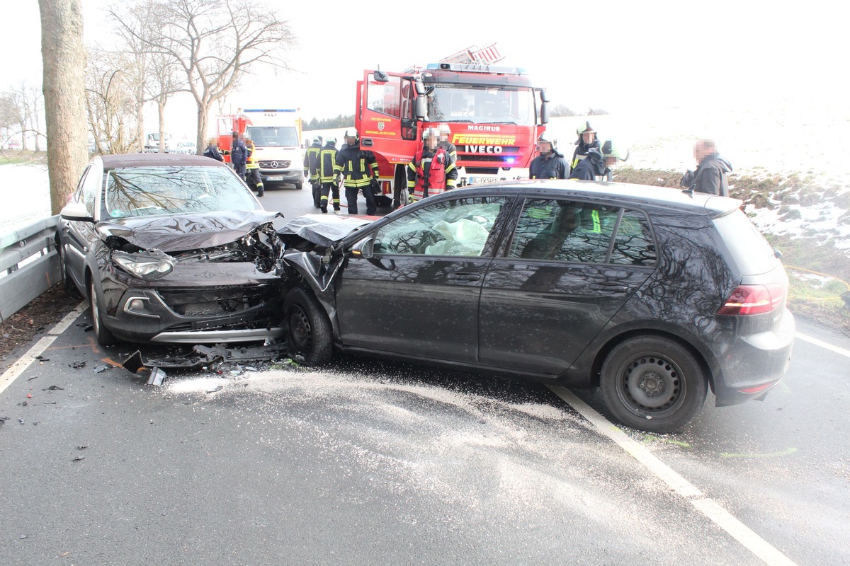
[[[267,210],[224,210],[196,215],[137,216],[103,221],[97,229],[103,238],[114,236],[142,249],[173,252],[229,244],[274,221],[277,215]]]

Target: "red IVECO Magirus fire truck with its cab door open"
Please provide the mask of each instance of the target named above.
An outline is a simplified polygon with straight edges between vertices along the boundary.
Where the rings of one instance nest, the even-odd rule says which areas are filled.
[[[405,168],[428,127],[449,126],[458,186],[528,177],[537,137],[549,120],[548,98],[522,69],[494,66],[499,60],[490,46],[465,49],[424,69],[364,71],[354,124],[360,147],[377,157],[386,204],[406,201]]]

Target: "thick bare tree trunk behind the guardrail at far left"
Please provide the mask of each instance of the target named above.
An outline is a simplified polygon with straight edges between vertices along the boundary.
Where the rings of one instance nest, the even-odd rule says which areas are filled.
[[[65,206],[88,161],[86,148],[86,67],[82,46],[81,0],[38,0],[42,17],[42,64],[48,137],[50,209]]]

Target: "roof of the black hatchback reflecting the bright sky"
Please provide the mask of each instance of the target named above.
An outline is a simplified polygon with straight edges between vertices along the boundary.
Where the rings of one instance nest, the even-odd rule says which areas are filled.
[[[632,204],[636,207],[647,205],[667,209],[686,210],[694,214],[712,216],[740,208],[742,201],[716,194],[683,191],[680,188],[653,187],[626,182],[579,181],[576,179],[533,179],[523,181],[496,182],[488,185],[476,185],[472,190],[496,188],[498,192],[514,193],[533,191],[552,194],[561,198],[595,199],[616,202],[620,205]],[[467,190],[467,189],[456,189]],[[456,193],[456,191],[450,191]]]

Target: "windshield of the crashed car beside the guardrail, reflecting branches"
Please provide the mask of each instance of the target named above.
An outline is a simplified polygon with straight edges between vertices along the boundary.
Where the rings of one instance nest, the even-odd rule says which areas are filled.
[[[107,216],[257,210],[248,189],[224,167],[126,167],[109,171]]]

